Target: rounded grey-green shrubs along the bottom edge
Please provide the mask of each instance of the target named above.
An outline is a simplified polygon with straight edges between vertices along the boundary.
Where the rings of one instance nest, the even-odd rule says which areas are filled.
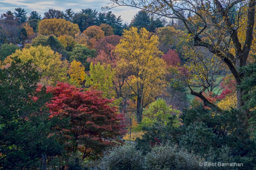
[[[122,145],[109,149],[99,160],[98,166],[89,169],[99,170],[167,170],[203,169],[201,157],[178,148],[175,144],[156,146],[146,155],[134,145]]]

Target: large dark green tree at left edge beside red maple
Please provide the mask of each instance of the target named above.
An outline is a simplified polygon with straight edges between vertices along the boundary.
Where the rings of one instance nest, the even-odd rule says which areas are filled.
[[[38,169],[42,153],[60,155],[63,147],[49,137],[51,122],[44,104],[51,94],[36,92],[39,73],[18,57],[0,69],[0,166],[5,170]],[[37,100],[34,100],[36,97]]]

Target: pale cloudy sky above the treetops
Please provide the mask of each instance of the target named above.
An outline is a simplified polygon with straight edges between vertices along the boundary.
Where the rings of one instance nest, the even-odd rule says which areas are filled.
[[[65,11],[71,8],[72,11],[78,12],[81,9],[92,8],[97,11],[101,11],[101,7],[107,6],[109,0],[0,0],[0,13],[6,11],[15,11],[15,8],[24,8],[29,13],[31,11],[37,11],[42,16],[49,8],[55,8],[56,10]],[[116,15],[120,16],[124,21],[131,22],[133,16],[139,11],[136,8],[131,7],[116,7],[111,9]],[[123,21],[123,22],[124,22]]]

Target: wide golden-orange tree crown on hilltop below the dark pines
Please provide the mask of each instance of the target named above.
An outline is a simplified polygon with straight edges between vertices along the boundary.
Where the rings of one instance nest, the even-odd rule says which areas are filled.
[[[79,32],[79,26],[73,24],[65,19],[43,19],[38,24],[38,33],[42,35],[55,35],[60,37],[60,35],[70,35],[72,37]]]

